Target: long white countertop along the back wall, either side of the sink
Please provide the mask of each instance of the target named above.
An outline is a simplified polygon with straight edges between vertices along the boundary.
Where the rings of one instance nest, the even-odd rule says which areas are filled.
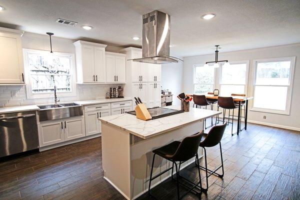
[[[124,97],[124,98],[101,98],[101,99],[92,99],[92,100],[79,100],[79,101],[72,101],[74,103],[80,105],[92,105],[97,103],[110,103],[110,102],[117,102],[117,101],[125,101],[125,100],[132,100],[132,98]],[[59,103],[67,103],[67,102],[58,102]],[[52,104],[52,103],[46,103]],[[38,104],[41,105],[41,104]],[[22,111],[30,111],[30,110],[39,110],[37,105],[20,105],[20,106],[9,106],[9,107],[0,107],[0,114],[4,113],[11,113],[11,112],[22,112]]]

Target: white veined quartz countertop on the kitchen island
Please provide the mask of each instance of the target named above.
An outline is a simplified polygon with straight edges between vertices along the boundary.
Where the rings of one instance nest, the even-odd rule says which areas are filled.
[[[177,105],[166,107],[180,109],[180,106]],[[220,113],[221,111],[190,107],[189,112],[182,112],[147,121],[138,119],[135,115],[128,113],[99,117],[99,120],[103,123],[119,127],[143,139],[147,139]]]

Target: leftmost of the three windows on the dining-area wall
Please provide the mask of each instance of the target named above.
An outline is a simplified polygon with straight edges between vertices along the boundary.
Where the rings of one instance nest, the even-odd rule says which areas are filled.
[[[214,68],[203,65],[194,65],[194,93],[213,91]]]

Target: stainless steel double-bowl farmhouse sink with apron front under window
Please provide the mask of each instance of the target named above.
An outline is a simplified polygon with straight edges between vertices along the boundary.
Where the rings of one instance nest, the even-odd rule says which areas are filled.
[[[83,115],[83,106],[76,103],[60,103],[38,106],[39,121],[68,118]]]

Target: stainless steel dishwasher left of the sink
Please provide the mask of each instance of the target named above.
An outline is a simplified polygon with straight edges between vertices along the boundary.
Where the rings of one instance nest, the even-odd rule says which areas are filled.
[[[0,157],[38,148],[35,111],[0,114]]]

